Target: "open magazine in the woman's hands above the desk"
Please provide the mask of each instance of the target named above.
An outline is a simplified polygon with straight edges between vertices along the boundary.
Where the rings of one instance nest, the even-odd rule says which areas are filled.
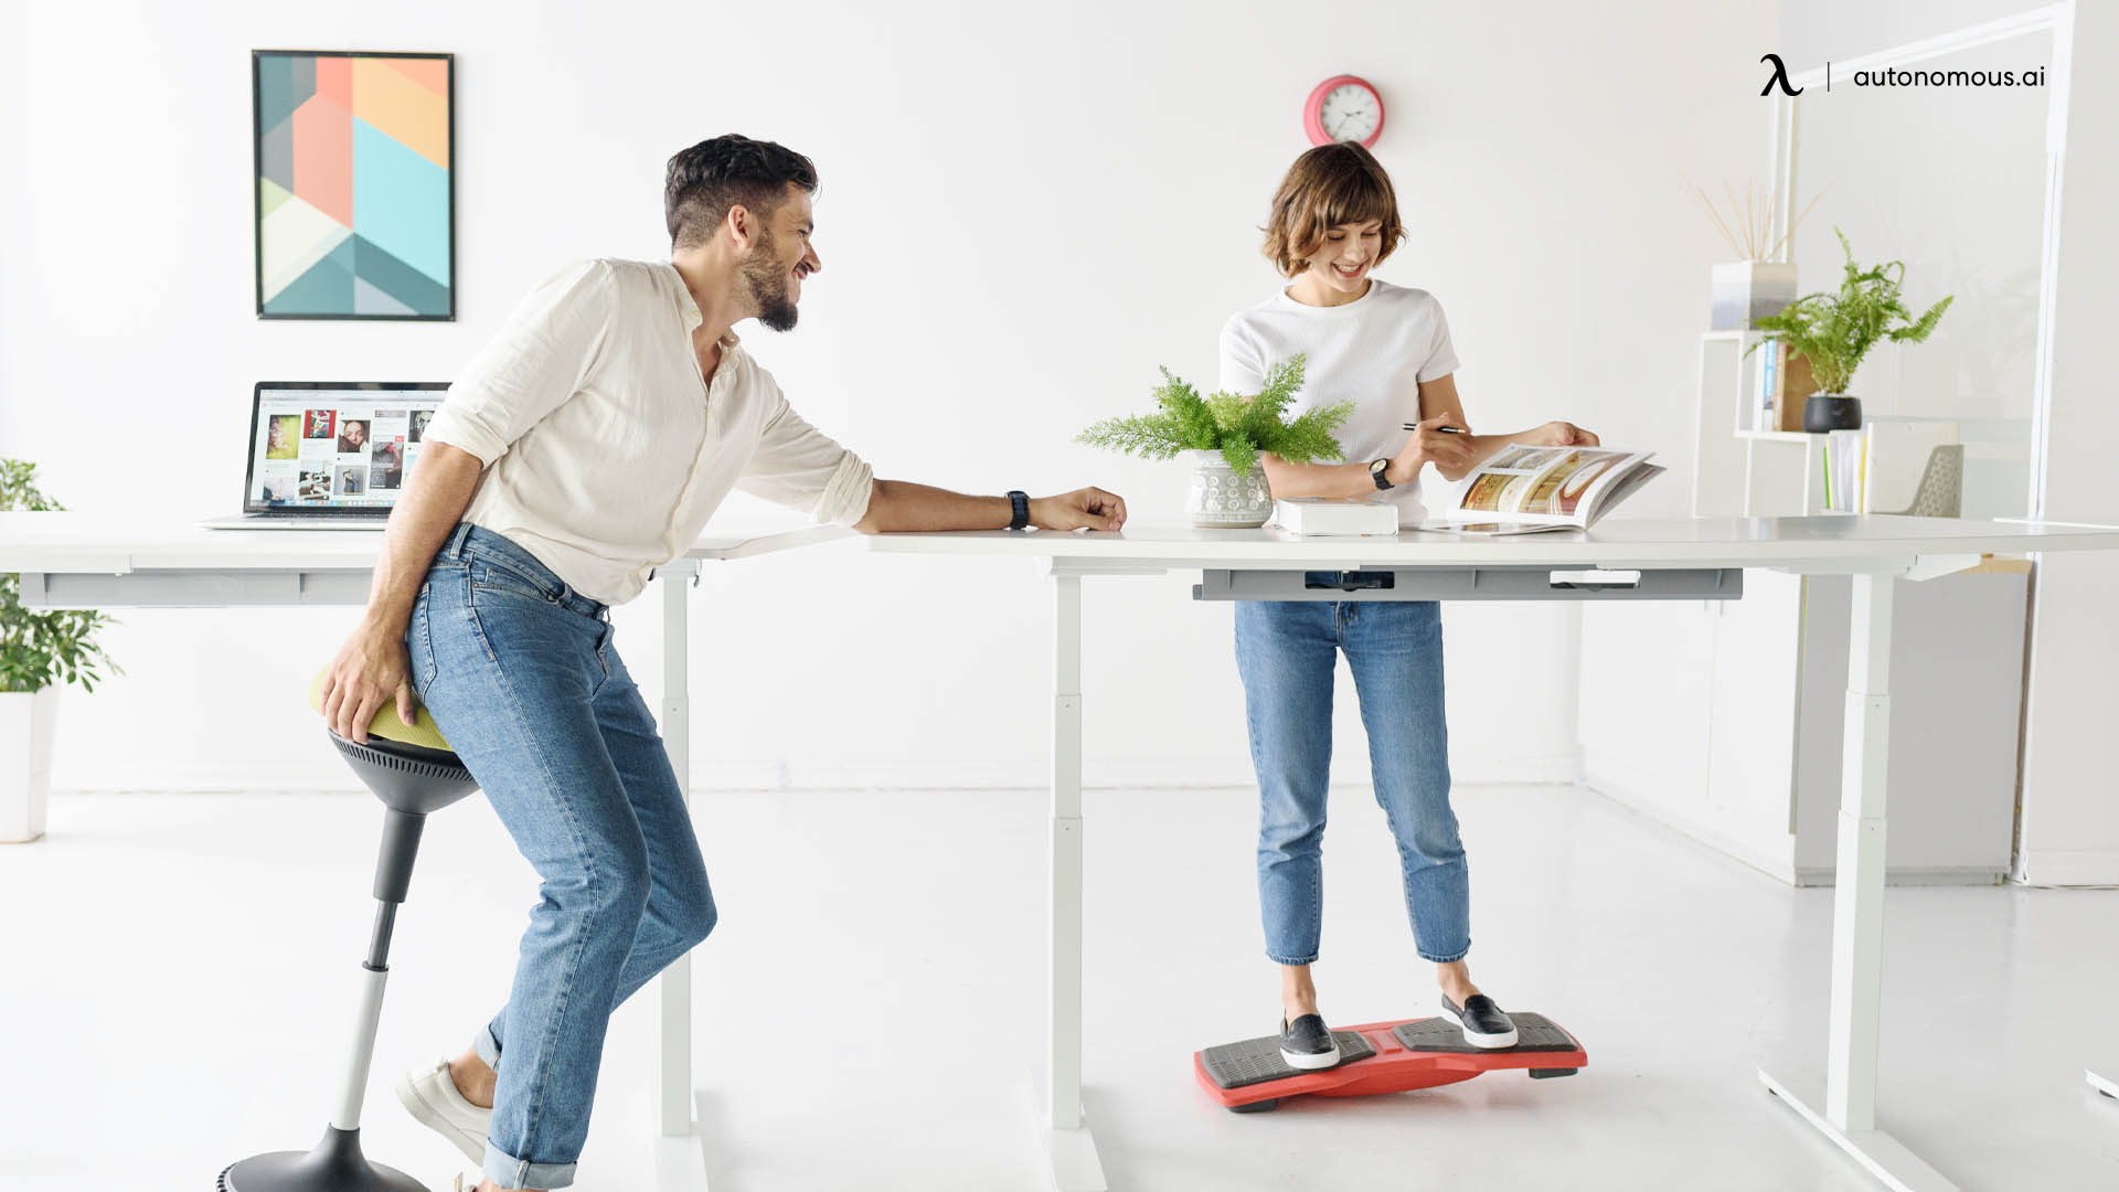
[[[1502,448],[1464,477],[1456,501],[1420,524],[1460,534],[1585,530],[1663,473],[1653,452],[1608,448]]]

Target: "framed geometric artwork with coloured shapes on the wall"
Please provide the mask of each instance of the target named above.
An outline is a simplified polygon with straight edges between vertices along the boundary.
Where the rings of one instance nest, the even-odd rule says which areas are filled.
[[[250,51],[259,318],[456,318],[456,55]]]

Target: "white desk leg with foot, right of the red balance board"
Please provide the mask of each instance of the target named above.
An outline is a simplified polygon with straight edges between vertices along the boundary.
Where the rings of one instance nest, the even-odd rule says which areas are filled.
[[[1875,1128],[1875,1052],[1884,993],[1884,791],[1890,747],[1890,598],[1897,577],[1856,575],[1839,768],[1839,867],[1833,884],[1833,999],[1824,1111],[1765,1071],[1765,1082],[1886,1188],[1954,1190]]]

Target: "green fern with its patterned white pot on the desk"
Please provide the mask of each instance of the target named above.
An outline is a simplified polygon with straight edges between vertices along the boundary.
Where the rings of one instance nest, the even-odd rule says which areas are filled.
[[[1290,464],[1346,458],[1333,431],[1354,411],[1352,401],[1286,418],[1288,403],[1303,388],[1303,356],[1290,356],[1267,369],[1265,388],[1254,397],[1199,397],[1199,390],[1161,369],[1155,414],[1106,418],[1083,431],[1079,441],[1148,460],[1182,454],[1193,464],[1191,494],[1185,501],[1193,526],[1263,526],[1274,515],[1274,494],[1257,467],[1261,454]]]

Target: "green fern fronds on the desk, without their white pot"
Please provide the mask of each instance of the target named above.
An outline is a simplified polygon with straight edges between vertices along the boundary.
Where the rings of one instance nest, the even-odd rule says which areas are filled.
[[[1178,452],[1221,452],[1235,475],[1250,475],[1261,452],[1290,464],[1343,460],[1333,431],[1354,414],[1352,401],[1303,411],[1293,422],[1284,418],[1295,392],[1303,388],[1303,356],[1290,356],[1267,369],[1265,388],[1254,397],[1199,397],[1199,390],[1161,369],[1163,384],[1155,386],[1159,411],[1106,418],[1076,441],[1148,460],[1168,460]]]

